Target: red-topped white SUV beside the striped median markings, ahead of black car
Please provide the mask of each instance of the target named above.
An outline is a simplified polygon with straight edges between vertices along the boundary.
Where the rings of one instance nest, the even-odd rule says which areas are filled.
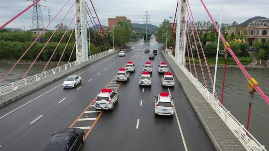
[[[94,108],[100,110],[114,110],[114,106],[118,103],[119,94],[110,88],[104,88],[94,100]]]

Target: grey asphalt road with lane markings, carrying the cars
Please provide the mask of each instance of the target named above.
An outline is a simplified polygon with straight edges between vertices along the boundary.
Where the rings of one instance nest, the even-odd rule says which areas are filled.
[[[149,47],[143,42],[128,45],[125,57],[115,54],[74,73],[82,77],[76,88],[63,89],[63,78],[0,108],[0,151],[42,151],[51,134],[67,127],[81,127],[87,134],[80,151],[215,150],[179,84],[161,87],[161,56],[150,61],[152,87],[139,87],[148,54],[131,47],[152,52],[163,46],[154,38]],[[118,69],[129,60],[135,61],[135,73],[127,83],[116,82]],[[92,100],[104,87],[119,92],[119,103],[112,112],[95,112]],[[154,116],[153,96],[162,91],[174,97],[173,117]]]

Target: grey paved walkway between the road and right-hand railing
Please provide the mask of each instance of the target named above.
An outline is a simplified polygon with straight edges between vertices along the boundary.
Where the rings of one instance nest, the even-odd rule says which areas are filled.
[[[188,77],[180,70],[173,59],[167,54],[162,55],[173,70],[216,149],[219,151],[246,151],[237,137],[212,109],[210,104],[192,84]]]

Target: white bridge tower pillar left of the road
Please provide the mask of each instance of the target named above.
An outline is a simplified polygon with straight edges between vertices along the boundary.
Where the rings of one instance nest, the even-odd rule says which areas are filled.
[[[77,64],[88,61],[88,31],[87,31],[87,16],[86,16],[86,1],[76,0],[76,61]]]

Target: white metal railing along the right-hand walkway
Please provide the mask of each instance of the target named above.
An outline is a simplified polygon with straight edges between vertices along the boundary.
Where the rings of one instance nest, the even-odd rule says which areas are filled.
[[[175,57],[168,53],[169,56],[175,61]],[[199,92],[204,96],[207,102],[223,120],[223,122],[228,126],[228,128],[234,133],[242,145],[247,151],[267,151],[265,146],[261,145],[248,131],[245,129],[244,125],[239,123],[239,121],[228,111],[219,101],[212,96],[212,93],[204,87],[204,85],[193,76],[182,64],[179,65],[182,72],[190,79],[190,81],[195,85]],[[247,135],[248,134],[248,135]]]

